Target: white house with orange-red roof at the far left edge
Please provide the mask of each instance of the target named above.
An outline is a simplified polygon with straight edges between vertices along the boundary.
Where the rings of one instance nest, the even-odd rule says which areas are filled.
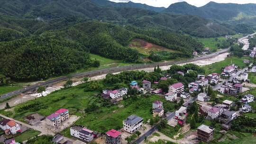
[[[5,135],[15,135],[21,132],[20,126],[13,120],[2,119],[0,121],[0,128],[5,132]]]

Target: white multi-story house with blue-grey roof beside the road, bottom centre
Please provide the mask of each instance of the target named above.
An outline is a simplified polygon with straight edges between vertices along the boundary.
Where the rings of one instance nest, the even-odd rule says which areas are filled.
[[[142,127],[142,124],[143,124],[143,118],[138,117],[136,115],[131,115],[125,121],[123,121],[124,130],[131,134],[133,134],[140,127]]]

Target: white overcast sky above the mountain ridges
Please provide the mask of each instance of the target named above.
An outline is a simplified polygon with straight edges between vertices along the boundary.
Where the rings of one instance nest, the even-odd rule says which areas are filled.
[[[205,4],[207,4],[210,1],[215,1],[218,3],[239,3],[239,4],[245,4],[245,3],[256,3],[256,0],[110,0],[114,2],[136,2],[136,3],[145,3],[150,6],[154,7],[169,7],[170,4],[176,3],[176,2],[181,2],[181,1],[186,1],[187,3],[201,7]]]

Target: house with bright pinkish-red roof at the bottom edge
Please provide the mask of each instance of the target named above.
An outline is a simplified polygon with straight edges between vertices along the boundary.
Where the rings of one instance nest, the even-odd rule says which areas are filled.
[[[106,132],[106,144],[121,144],[121,133],[117,130],[111,129]]]

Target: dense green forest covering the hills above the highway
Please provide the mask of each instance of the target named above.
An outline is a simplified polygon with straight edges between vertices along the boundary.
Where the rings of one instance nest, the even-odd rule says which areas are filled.
[[[2,0],[0,74],[11,80],[40,80],[95,66],[89,53],[140,63],[135,39],[179,51],[168,59],[192,57],[203,45],[192,36],[234,34],[216,21],[160,12],[150,6],[107,0]],[[153,9],[153,11],[148,9]],[[158,53],[148,57],[161,61]]]

